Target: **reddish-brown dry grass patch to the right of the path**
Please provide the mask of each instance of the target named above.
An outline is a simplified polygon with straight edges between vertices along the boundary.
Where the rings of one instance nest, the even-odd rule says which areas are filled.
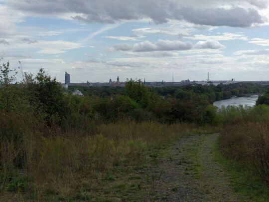
[[[254,170],[269,185],[269,124],[241,123],[227,126],[220,137],[222,153]]]

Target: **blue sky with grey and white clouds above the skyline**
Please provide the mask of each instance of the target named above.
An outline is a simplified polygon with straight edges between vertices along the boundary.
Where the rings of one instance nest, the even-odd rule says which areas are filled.
[[[60,82],[269,80],[269,0],[0,0],[0,57]]]

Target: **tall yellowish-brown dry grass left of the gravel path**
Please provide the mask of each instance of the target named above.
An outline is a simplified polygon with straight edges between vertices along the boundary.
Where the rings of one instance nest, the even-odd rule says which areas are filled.
[[[100,178],[122,164],[140,165],[150,148],[199,132],[191,124],[127,122],[97,125],[86,135],[19,117],[1,116],[1,191],[69,192],[83,178]]]

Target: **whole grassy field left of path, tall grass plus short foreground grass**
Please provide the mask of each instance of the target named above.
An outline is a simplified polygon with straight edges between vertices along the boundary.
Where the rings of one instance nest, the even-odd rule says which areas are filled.
[[[1,199],[6,201],[139,200],[150,194],[148,159],[183,136],[210,131],[193,124],[102,124],[92,136],[27,135],[21,151],[26,166],[3,164]],[[12,142],[1,146],[1,161],[12,153]],[[14,157],[15,158],[15,157]],[[16,169],[11,169],[16,168]],[[134,194],[135,193],[135,194]]]

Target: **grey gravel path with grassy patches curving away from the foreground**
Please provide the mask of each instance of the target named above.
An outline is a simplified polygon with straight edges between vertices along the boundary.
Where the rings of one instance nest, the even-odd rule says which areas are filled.
[[[229,176],[214,161],[218,134],[189,136],[172,145],[150,168],[153,201],[236,202]]]

